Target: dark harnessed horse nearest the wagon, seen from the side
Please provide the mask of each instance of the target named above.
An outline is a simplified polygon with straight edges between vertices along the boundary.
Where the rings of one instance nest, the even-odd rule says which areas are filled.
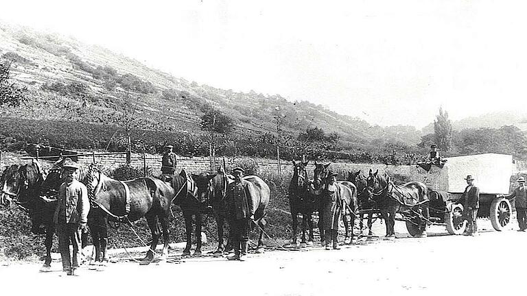
[[[395,214],[400,212],[412,236],[426,236],[428,211],[428,188],[421,182],[408,182],[402,186],[393,184],[390,177],[372,173],[367,180],[367,190],[386,221],[386,236],[395,236]],[[413,230],[413,231],[412,231]]]

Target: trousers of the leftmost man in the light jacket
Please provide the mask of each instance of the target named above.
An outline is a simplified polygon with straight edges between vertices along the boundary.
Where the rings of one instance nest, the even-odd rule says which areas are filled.
[[[59,223],[57,225],[58,249],[62,257],[62,269],[69,270],[78,267],[81,250],[81,230],[78,223]],[[69,243],[73,245],[73,258],[69,251]]]

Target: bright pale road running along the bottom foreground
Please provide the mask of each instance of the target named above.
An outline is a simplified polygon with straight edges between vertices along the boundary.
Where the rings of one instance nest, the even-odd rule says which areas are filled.
[[[490,230],[488,221],[480,224],[487,230],[476,237],[448,236],[443,227],[432,227],[428,238],[406,238],[404,225],[397,223],[401,238],[395,241],[361,240],[339,251],[268,251],[250,254],[245,262],[203,256],[175,264],[180,250],[174,250],[169,262],[110,263],[104,271],[84,267],[75,277],[60,272],[60,262],[49,273],[38,273],[40,264],[12,264],[0,267],[0,281],[3,292],[24,295],[74,288],[78,295],[505,295],[524,290],[527,232],[513,230],[515,221],[504,232]]]

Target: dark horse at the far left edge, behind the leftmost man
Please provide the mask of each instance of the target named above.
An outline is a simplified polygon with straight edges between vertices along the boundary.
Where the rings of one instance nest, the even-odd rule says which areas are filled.
[[[59,175],[56,178],[56,174]],[[55,180],[54,182],[47,182]],[[58,187],[62,184],[60,169],[51,170],[44,179],[43,171],[38,162],[16,165],[5,169],[1,177],[3,188],[1,204],[9,206],[13,201],[17,206],[30,215],[34,234],[45,234],[46,257],[42,271],[51,268],[51,247],[55,233],[53,215],[56,208],[56,199],[48,199],[58,194]],[[48,186],[47,186],[48,184]],[[87,243],[87,235],[82,234],[82,247]]]

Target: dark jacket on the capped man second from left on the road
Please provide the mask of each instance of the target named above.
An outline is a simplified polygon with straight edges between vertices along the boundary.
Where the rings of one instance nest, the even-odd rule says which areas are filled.
[[[248,219],[255,213],[249,186],[250,183],[243,179],[227,186],[226,201],[232,219]]]

